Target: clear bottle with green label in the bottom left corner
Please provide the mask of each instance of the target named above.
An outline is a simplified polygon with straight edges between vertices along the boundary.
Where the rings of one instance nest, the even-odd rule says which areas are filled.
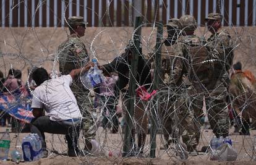
[[[0,139],[0,159],[6,161],[8,158],[8,153],[10,149],[11,137],[9,134],[9,129],[6,129],[4,135]]]

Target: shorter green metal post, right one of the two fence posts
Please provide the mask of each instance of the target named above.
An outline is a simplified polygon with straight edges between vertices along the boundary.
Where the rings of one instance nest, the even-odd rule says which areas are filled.
[[[154,81],[153,89],[158,90],[160,74],[161,74],[161,39],[163,37],[163,23],[156,23],[157,34],[156,34],[156,56],[155,56],[155,70],[154,70]],[[156,112],[158,112],[158,96],[156,95],[153,100],[154,108],[151,108],[151,129],[150,129],[150,157],[155,158],[156,154],[156,133],[158,130],[158,123],[156,119]]]

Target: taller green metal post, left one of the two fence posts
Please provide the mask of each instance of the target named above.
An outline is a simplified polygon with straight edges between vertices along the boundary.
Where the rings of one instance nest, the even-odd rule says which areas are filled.
[[[136,17],[135,20],[135,30],[137,27],[139,27],[142,24],[142,17]],[[131,69],[130,69],[130,81],[129,81],[129,91],[128,95],[130,98],[128,100],[127,104],[127,113],[126,113],[126,128],[124,130],[124,146],[123,146],[123,152],[122,156],[128,156],[129,150],[130,150],[130,140],[132,136],[132,129],[134,127],[132,123],[132,118],[134,116],[134,96],[135,96],[135,88],[136,88],[136,77],[137,77],[137,69],[138,69],[138,61],[139,61],[139,56],[142,52],[140,52],[140,33],[141,33],[141,27],[136,30],[134,33],[134,45],[135,49],[133,50],[133,57],[132,57],[132,64],[131,64]]]

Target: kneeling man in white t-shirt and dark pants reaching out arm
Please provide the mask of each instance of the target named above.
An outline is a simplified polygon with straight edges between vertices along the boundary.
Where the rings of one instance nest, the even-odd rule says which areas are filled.
[[[33,91],[32,108],[36,118],[31,122],[30,130],[41,138],[44,158],[48,156],[45,132],[65,134],[68,155],[77,156],[77,138],[82,114],[70,85],[75,75],[86,72],[92,66],[93,63],[89,62],[83,69],[74,69],[69,75],[53,79],[49,79],[48,72],[43,68],[33,72],[32,78],[38,87]],[[44,111],[47,116],[44,116]]]

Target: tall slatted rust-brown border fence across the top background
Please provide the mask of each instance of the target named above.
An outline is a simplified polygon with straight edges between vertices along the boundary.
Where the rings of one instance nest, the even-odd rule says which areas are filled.
[[[142,0],[148,23],[194,15],[198,25],[210,12],[224,15],[225,26],[255,26],[256,0]],[[132,0],[2,0],[1,27],[64,27],[65,18],[83,16],[88,27],[132,26]],[[138,10],[138,9],[136,9]]]

